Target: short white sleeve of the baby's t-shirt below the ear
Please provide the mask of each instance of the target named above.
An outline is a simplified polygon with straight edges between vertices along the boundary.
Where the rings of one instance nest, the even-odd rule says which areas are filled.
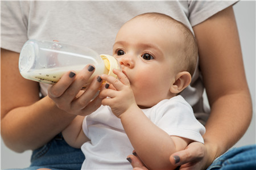
[[[181,96],[180,96],[181,98]],[[204,126],[196,120],[191,106],[184,100],[170,100],[158,108],[162,118],[155,124],[169,135],[204,143]]]

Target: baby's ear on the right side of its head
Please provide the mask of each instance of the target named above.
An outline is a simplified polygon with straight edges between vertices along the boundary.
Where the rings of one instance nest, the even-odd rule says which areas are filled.
[[[182,71],[175,77],[175,82],[172,84],[170,91],[172,94],[179,94],[191,83],[191,75],[188,71]]]

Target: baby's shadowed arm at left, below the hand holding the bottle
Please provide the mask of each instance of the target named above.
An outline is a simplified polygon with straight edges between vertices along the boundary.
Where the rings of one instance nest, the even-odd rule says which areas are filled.
[[[68,145],[80,148],[82,144],[89,141],[82,130],[82,121],[84,116],[76,116],[76,118],[62,131],[63,138]]]

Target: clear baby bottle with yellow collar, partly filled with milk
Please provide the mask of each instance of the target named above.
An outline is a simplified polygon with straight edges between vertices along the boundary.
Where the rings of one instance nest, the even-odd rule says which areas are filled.
[[[84,88],[96,75],[108,74],[117,78],[112,70],[121,70],[117,59],[106,54],[98,55],[89,48],[55,41],[28,40],[20,52],[19,71],[26,79],[54,84],[65,72],[74,70],[79,73],[89,63],[96,68]]]

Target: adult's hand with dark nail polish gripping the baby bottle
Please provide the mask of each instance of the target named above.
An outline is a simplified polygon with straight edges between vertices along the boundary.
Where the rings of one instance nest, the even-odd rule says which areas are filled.
[[[59,82],[48,89],[48,96],[58,108],[70,114],[86,116],[96,111],[101,105],[101,99],[93,98],[101,86],[102,79],[96,76],[86,91],[81,90],[94,70],[94,66],[87,65],[77,75],[75,71],[65,73]]]

